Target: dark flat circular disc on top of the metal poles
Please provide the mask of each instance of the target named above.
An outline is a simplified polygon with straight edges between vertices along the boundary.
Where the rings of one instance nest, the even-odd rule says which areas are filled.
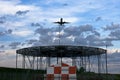
[[[37,46],[17,50],[17,54],[34,57],[86,57],[105,53],[106,50],[102,48],[72,45]]]

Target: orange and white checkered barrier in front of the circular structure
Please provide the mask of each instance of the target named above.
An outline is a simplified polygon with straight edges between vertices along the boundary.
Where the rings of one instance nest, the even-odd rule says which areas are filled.
[[[76,80],[76,66],[62,63],[48,67],[47,80]]]

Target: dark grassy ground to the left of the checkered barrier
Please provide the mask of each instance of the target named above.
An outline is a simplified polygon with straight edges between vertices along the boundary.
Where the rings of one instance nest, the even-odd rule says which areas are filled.
[[[37,80],[44,77],[45,70],[0,68],[0,80]]]

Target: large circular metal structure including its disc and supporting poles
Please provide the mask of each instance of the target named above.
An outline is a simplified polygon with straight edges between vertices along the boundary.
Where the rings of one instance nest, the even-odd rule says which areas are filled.
[[[64,61],[62,58],[69,58],[71,64],[77,66],[78,69],[83,67],[88,72],[106,72],[106,74],[108,72],[107,50],[97,47],[50,45],[22,48],[16,51],[16,68],[18,67],[18,55],[21,55],[23,69],[47,69],[51,63],[62,63]],[[51,60],[54,61],[51,62]],[[97,70],[94,71],[94,68]]]

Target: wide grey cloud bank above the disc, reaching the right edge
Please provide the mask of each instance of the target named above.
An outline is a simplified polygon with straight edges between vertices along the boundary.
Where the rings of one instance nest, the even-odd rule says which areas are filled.
[[[103,37],[101,33],[90,24],[69,27],[63,26],[60,27],[60,42],[61,44],[114,46],[112,42],[120,39],[120,25],[111,23],[110,25],[105,26],[103,30],[105,32],[109,31],[109,34],[107,34],[106,37]],[[33,45],[58,44],[58,33],[59,27],[50,28],[40,26],[35,30],[35,34],[39,34],[39,39],[36,42],[33,42]],[[32,42],[30,41],[30,43]]]

